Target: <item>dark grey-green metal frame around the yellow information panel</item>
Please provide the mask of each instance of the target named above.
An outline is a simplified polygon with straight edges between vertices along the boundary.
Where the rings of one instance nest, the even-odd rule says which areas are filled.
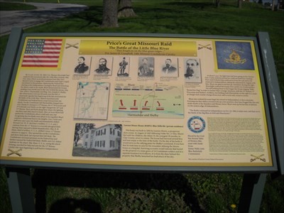
[[[18,63],[20,61],[23,43],[27,36],[43,36],[42,33],[23,33],[21,28],[14,28],[9,38],[9,49],[4,55],[1,65],[1,136],[4,131],[5,120],[8,113],[11,92],[15,82]],[[0,160],[6,167],[28,168],[67,168],[86,170],[131,170],[131,171],[160,171],[160,172],[244,172],[244,173],[284,173],[283,163],[283,106],[278,87],[275,65],[269,43],[268,33],[258,33],[258,38],[220,35],[163,35],[163,34],[125,34],[125,33],[45,33],[44,36],[108,36],[108,37],[145,37],[145,38],[218,38],[253,40],[256,47],[256,58],[261,77],[263,100],[266,109],[268,134],[271,141],[271,155],[273,166],[149,166],[149,165],[100,165],[90,163],[59,163],[59,162],[33,162],[21,160]],[[276,153],[275,153],[276,151]],[[278,166],[277,166],[278,164]]]

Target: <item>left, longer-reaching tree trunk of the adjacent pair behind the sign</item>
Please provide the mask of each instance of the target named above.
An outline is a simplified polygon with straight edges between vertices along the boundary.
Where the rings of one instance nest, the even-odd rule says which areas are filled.
[[[102,14],[102,28],[117,28],[119,22],[117,18],[117,0],[104,0]]]

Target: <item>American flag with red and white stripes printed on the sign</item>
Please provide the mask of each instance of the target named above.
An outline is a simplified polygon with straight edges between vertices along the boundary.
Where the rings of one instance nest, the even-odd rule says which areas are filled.
[[[62,39],[28,39],[22,67],[58,67]]]

